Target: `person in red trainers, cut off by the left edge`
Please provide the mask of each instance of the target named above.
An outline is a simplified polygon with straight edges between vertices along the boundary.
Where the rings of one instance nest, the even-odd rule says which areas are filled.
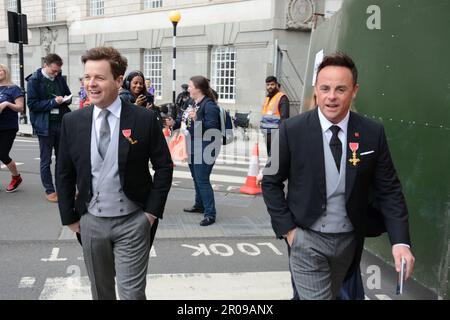
[[[16,191],[22,183],[22,177],[9,152],[19,131],[17,113],[23,111],[23,96],[22,90],[11,82],[9,68],[0,64],[0,161],[5,164],[12,176],[6,192]]]

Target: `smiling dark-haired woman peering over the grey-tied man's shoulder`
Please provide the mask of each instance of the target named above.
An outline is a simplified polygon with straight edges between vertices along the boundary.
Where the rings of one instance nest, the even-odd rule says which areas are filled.
[[[145,77],[140,71],[131,71],[123,81],[119,94],[120,98],[137,106],[151,109],[154,103],[154,97],[148,93],[145,87]]]

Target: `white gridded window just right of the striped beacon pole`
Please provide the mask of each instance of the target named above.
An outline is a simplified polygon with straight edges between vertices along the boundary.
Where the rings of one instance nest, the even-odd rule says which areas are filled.
[[[234,103],[236,99],[236,49],[215,47],[211,51],[211,86],[219,101]]]

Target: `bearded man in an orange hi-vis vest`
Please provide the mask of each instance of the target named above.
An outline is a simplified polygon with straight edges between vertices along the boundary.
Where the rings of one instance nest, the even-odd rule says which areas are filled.
[[[267,155],[271,153],[272,129],[278,129],[281,122],[289,118],[289,99],[280,90],[280,84],[274,76],[266,78],[267,96],[264,101],[261,129],[265,136]]]

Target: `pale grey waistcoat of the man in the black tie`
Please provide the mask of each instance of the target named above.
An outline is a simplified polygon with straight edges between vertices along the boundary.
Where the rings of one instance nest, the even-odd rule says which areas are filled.
[[[345,166],[347,148],[342,146],[341,170],[336,168],[330,145],[323,134],[323,151],[325,156],[325,179],[327,185],[327,209],[310,227],[323,233],[340,233],[353,231],[353,225],[345,208]]]

